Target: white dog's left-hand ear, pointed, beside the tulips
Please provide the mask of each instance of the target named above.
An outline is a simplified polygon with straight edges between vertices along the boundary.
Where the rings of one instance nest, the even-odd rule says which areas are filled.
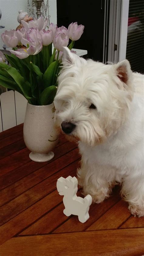
[[[68,47],[63,47],[62,64],[63,67],[70,67],[71,65],[79,65],[85,62],[83,58],[77,56],[77,54],[72,53]]]

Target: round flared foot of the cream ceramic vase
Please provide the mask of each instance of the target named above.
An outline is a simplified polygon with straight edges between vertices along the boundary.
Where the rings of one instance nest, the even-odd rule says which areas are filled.
[[[52,151],[48,153],[31,152],[29,154],[29,158],[35,162],[47,162],[50,161],[53,157],[54,153]]]

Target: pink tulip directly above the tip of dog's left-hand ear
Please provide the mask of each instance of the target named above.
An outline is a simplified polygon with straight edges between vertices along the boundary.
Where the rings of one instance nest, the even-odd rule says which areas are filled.
[[[67,46],[69,42],[68,36],[65,33],[56,34],[53,38],[53,45],[56,50],[63,51],[63,46]]]

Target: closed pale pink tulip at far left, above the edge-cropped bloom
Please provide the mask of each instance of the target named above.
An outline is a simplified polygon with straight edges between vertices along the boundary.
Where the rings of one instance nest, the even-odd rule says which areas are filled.
[[[17,45],[22,45],[21,39],[22,39],[22,33],[20,31],[5,30],[5,33],[2,34],[2,40],[8,47],[16,47]]]

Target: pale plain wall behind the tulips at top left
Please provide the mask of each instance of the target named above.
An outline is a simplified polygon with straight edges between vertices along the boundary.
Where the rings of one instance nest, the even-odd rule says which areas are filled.
[[[57,24],[57,0],[49,0],[49,6],[50,22]],[[5,30],[16,29],[19,25],[17,22],[18,12],[20,9],[27,12],[27,0],[0,0],[0,9],[2,11],[0,25],[5,26],[4,29],[0,29],[1,35]],[[2,46],[3,42],[0,37],[0,49],[3,49]]]

